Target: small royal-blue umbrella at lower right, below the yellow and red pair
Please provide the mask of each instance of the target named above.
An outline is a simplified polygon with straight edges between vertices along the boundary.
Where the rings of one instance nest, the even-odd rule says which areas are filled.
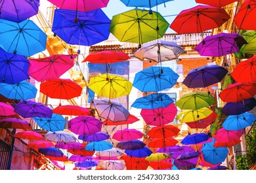
[[[182,139],[181,143],[184,145],[192,145],[198,144],[200,142],[207,141],[210,138],[206,133],[194,133],[192,135],[186,135],[184,139]]]

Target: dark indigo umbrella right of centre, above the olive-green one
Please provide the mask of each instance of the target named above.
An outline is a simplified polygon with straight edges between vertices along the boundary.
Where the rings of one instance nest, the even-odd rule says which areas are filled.
[[[203,65],[191,69],[182,83],[188,88],[204,88],[221,82],[227,73],[228,70],[219,65]]]

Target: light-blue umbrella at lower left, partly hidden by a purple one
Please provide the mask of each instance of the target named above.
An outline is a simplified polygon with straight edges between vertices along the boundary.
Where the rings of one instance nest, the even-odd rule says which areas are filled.
[[[62,115],[54,113],[51,118],[35,117],[33,119],[39,125],[39,127],[53,132],[63,131],[66,124],[66,120]]]

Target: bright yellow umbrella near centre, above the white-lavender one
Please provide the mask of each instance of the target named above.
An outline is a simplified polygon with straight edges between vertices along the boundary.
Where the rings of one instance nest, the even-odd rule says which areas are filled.
[[[115,99],[129,95],[133,84],[119,75],[104,74],[91,78],[88,87],[97,95]]]

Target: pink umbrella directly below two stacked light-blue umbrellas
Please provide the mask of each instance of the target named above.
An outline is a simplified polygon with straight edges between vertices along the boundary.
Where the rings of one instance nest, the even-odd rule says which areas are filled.
[[[167,107],[154,109],[142,108],[140,115],[148,125],[163,126],[173,122],[177,111],[175,104],[171,103]]]

